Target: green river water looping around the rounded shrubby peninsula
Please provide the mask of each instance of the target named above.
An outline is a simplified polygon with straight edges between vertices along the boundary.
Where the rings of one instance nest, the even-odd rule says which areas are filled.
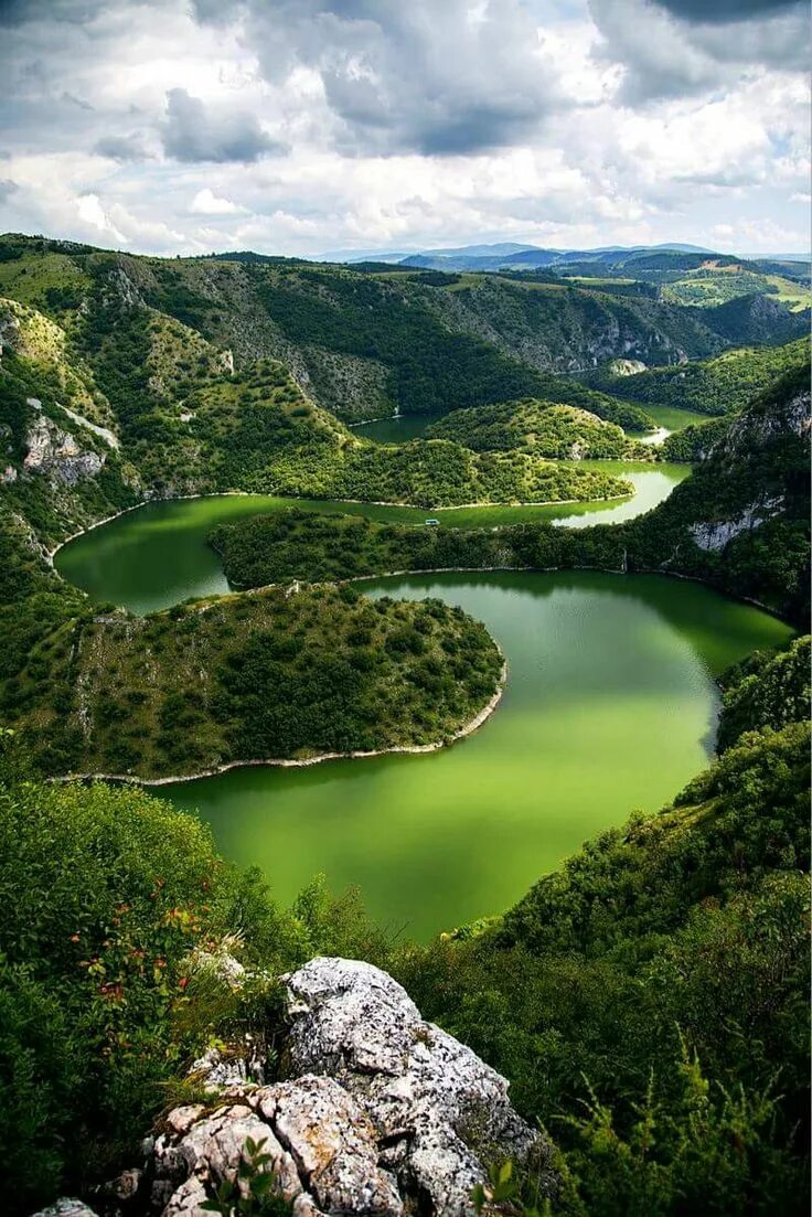
[[[153,504],[72,542],[56,565],[136,612],[222,591],[206,533],[279,501]],[[432,755],[235,769],[161,795],[196,809],[226,857],[259,865],[282,903],[324,873],[420,938],[500,912],[587,837],[670,800],[711,755],[715,674],[790,634],[757,608],[659,576],[436,574],[365,589],[441,596],[486,622],[509,678],[485,727]]]

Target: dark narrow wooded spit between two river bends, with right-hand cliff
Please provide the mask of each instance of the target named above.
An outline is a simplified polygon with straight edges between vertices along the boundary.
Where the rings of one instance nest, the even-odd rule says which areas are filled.
[[[628,523],[582,529],[528,523],[494,532],[293,514],[226,525],[211,539],[234,587],[442,567],[665,571],[756,599],[802,627],[808,619],[807,383],[807,371],[780,381],[726,426],[665,503]]]

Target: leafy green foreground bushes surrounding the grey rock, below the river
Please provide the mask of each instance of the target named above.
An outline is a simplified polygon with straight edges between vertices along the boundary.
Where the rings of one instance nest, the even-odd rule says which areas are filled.
[[[195,1097],[183,1076],[207,1044],[247,1031],[273,1062],[273,977],[340,953],[388,968],[510,1078],[558,1144],[554,1213],[805,1212],[808,724],[751,729],[775,706],[775,664],[795,697],[799,651],[745,677],[766,679],[749,686],[747,729],[729,718],[724,755],[673,806],[603,834],[504,918],[426,947],[387,943],[318,885],[281,913],[195,818],[133,790],[41,785],[7,755],[12,1207],[110,1178],[167,1095]],[[223,949],[251,969],[241,989],[206,965]],[[515,1204],[532,1196],[520,1173],[494,1178]]]

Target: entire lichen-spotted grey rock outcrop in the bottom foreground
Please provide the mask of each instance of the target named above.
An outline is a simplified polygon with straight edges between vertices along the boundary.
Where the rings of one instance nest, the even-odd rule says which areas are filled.
[[[116,1189],[127,1211],[203,1217],[224,1185],[247,1199],[270,1174],[263,1187],[293,1217],[467,1217],[475,1185],[508,1159],[532,1161],[553,1195],[550,1148],[511,1107],[508,1082],[425,1022],[391,976],[320,958],[282,981],[290,1079],[250,1082],[256,1061],[196,1062],[212,1098],[175,1107],[145,1143],[144,1170]]]

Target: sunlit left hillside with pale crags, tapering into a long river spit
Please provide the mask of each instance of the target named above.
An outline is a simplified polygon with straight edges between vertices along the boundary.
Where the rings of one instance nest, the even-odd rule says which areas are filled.
[[[435,506],[628,490],[527,453],[483,458],[422,441],[381,448],[309,400],[281,363],[234,371],[228,350],[129,301],[121,284],[63,315],[66,327],[0,301],[1,494],[49,545],[156,495],[256,490]]]

